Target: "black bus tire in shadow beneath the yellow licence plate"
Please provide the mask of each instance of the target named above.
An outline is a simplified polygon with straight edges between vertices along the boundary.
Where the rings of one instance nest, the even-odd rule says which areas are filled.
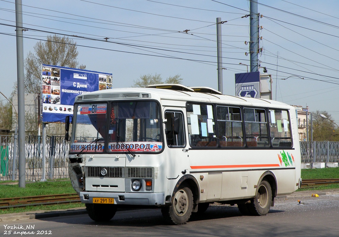
[[[117,205],[86,203],[88,216],[94,221],[109,221],[117,212]]]

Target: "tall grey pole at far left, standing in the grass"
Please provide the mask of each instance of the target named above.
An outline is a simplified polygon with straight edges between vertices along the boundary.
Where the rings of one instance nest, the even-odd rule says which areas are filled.
[[[25,180],[25,92],[23,71],[23,28],[22,1],[15,0],[15,18],[17,35],[17,77],[18,77],[18,150],[19,150],[19,187],[26,187]]]

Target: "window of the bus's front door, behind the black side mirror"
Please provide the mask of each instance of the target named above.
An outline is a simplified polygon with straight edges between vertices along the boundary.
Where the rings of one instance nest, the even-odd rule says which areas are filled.
[[[183,114],[181,112],[165,112],[165,118],[167,119],[166,123],[175,123],[179,125],[179,130],[174,131],[167,131],[170,129],[166,129],[166,141],[169,147],[184,147],[185,146],[185,133],[184,133],[184,122],[183,122]],[[167,124],[166,124],[167,127]]]

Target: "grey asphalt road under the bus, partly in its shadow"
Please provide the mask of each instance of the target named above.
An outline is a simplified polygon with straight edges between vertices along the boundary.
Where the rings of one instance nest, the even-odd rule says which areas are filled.
[[[0,235],[338,237],[338,219],[339,192],[319,197],[307,193],[277,198],[270,213],[259,217],[242,216],[236,205],[212,205],[203,215],[176,226],[165,224],[157,209],[125,210],[105,223],[94,222],[87,214],[1,221]]]

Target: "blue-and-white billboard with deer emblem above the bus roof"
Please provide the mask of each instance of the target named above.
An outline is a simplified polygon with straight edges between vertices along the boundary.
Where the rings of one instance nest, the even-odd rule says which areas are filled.
[[[236,96],[260,98],[260,72],[235,74]]]

